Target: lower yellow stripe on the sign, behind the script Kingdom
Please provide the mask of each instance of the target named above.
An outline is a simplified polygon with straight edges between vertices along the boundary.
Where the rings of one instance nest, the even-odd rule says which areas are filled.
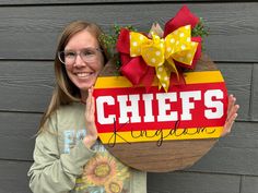
[[[218,138],[221,136],[223,126],[210,128],[189,128],[189,129],[163,129],[127,131],[116,133],[98,133],[102,143],[134,143],[134,142],[159,142],[172,140],[198,140],[198,138]]]

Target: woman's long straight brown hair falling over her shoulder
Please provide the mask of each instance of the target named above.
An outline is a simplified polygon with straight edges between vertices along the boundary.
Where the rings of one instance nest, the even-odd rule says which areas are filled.
[[[68,41],[71,39],[71,37],[83,29],[86,29],[89,33],[91,33],[91,35],[93,35],[98,40],[99,47],[103,50],[104,64],[108,60],[108,55],[104,47],[104,43],[99,38],[103,32],[96,24],[89,23],[85,21],[75,21],[70,23],[63,29],[58,41],[58,47],[56,50],[55,63],[54,63],[56,86],[52,92],[50,104],[42,117],[38,133],[46,130],[45,123],[50,118],[52,112],[55,112],[60,106],[71,104],[72,101],[81,100],[80,89],[68,77],[64,65],[58,59],[58,51],[62,51],[67,46]]]

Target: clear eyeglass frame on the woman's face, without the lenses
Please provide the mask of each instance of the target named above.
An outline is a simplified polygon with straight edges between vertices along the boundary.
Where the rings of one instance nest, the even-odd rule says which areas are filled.
[[[60,61],[62,64],[64,64],[64,65],[73,65],[73,64],[75,63],[75,61],[77,61],[77,57],[80,56],[81,60],[84,61],[85,63],[92,63],[92,62],[94,62],[94,61],[86,61],[86,60],[84,60],[83,57],[81,56],[82,52],[83,52],[83,50],[85,51],[85,50],[90,50],[90,49],[93,49],[93,50],[103,52],[103,49],[102,49],[102,48],[93,48],[93,47],[83,48],[83,49],[81,49],[81,50],[79,50],[79,51],[67,50],[67,51],[70,51],[70,52],[72,52],[72,53],[75,55],[75,56],[74,56],[74,61],[73,61],[72,63],[70,63],[70,64],[67,64],[67,63],[64,62],[64,56],[63,56],[63,61],[62,61],[61,53],[63,53],[63,55],[66,53],[66,50],[62,50],[62,51],[58,51],[58,59],[59,59],[59,61]],[[95,55],[95,56],[96,56],[96,55]]]

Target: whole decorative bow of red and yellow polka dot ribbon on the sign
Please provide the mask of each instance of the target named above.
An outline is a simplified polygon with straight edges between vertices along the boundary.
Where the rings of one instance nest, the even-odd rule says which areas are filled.
[[[165,25],[164,37],[151,34],[151,38],[143,34],[121,29],[117,49],[120,52],[121,72],[133,85],[143,84],[149,88],[159,79],[159,87],[165,92],[169,84],[181,84],[184,77],[179,68],[194,69],[200,58],[200,37],[191,37],[191,28],[199,19],[183,7],[177,15]],[[171,73],[176,79],[171,79]]]

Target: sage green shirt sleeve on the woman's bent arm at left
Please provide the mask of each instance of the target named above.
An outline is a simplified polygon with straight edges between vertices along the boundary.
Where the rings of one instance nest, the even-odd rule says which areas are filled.
[[[82,174],[83,166],[95,155],[80,141],[69,154],[59,154],[55,124],[48,122],[49,131],[40,133],[35,142],[34,164],[28,170],[30,188],[34,193],[67,193]]]

